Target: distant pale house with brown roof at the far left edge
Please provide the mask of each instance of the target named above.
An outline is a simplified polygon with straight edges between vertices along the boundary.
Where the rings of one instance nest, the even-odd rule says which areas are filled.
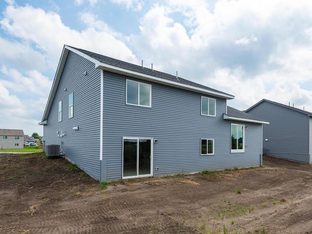
[[[23,130],[0,129],[0,150],[1,149],[23,149]]]

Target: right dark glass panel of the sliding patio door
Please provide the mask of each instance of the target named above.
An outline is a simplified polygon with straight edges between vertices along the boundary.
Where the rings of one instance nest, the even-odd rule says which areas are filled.
[[[151,140],[139,139],[138,175],[151,174]]]

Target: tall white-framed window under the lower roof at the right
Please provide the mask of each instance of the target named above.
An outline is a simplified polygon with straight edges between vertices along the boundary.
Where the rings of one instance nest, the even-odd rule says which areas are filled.
[[[231,153],[245,152],[245,125],[231,124]]]

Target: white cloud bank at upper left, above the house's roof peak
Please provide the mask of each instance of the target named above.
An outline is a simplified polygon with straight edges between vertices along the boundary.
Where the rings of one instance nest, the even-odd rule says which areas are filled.
[[[2,27],[11,35],[36,44],[37,49],[45,54],[48,64],[56,69],[64,44],[103,53],[117,59],[134,61],[132,51],[114,35],[96,28],[87,28],[81,32],[65,26],[59,15],[45,12],[40,8],[26,5],[7,6]],[[83,15],[86,16],[86,15]],[[89,15],[90,16],[90,15]],[[25,18],[29,20],[24,20]],[[92,17],[82,17],[85,22],[98,23]],[[105,25],[102,23],[102,25]],[[93,25],[94,26],[94,25]],[[105,29],[105,28],[104,28]]]

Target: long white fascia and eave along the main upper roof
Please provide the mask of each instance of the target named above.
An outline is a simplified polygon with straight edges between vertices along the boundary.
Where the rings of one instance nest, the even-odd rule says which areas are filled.
[[[210,95],[213,97],[225,98],[225,99],[234,99],[234,96],[232,96],[232,95],[221,94],[221,93],[210,91],[207,89],[198,88],[198,87],[195,87],[192,85],[181,84],[181,83],[178,83],[178,82],[175,82],[172,80],[153,77],[150,75],[146,75],[146,74],[142,74],[139,72],[135,72],[135,71],[127,70],[124,68],[116,67],[116,66],[113,66],[113,65],[110,65],[107,63],[99,62],[99,61],[96,62],[96,68],[102,69],[104,71],[110,71],[110,72],[130,76],[130,77],[134,77],[134,78],[140,78],[143,80],[153,81],[156,83],[160,83],[160,84],[164,84],[164,85],[168,85],[168,86],[172,86],[172,87],[176,87],[176,88],[180,88],[180,89],[189,90],[189,91],[193,91],[196,93],[206,94],[206,95]],[[148,69],[148,68],[146,68],[146,69]]]

